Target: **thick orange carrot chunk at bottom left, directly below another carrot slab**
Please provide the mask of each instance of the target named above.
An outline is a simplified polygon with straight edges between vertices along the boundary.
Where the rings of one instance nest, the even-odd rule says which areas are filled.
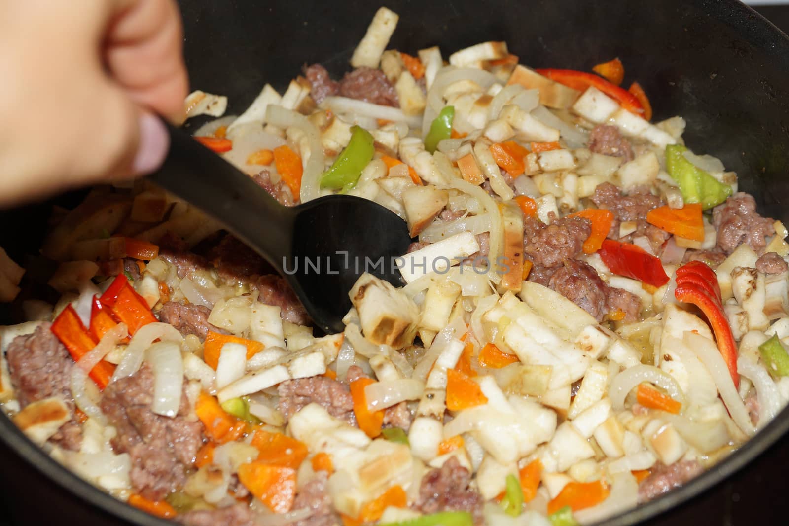
[[[296,470],[261,461],[241,464],[238,479],[275,513],[286,513],[296,498]]]

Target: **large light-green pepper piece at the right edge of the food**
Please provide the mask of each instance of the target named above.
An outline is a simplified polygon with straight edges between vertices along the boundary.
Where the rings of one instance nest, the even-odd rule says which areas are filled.
[[[682,199],[686,203],[701,203],[708,210],[723,203],[731,196],[731,186],[724,185],[709,173],[701,170],[682,155],[687,148],[682,144],[666,146],[666,169],[672,179],[679,184]]]

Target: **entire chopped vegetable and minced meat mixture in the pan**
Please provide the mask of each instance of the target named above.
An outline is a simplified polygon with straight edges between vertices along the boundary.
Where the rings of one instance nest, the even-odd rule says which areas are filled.
[[[679,487],[789,399],[787,229],[652,120],[618,59],[503,42],[305,65],[196,140],[286,206],[407,222],[403,283],[316,337],[271,267],[146,181],[55,209],[0,292],[2,405],[52,457],[182,524],[586,524]],[[364,228],[361,225],[360,228]],[[348,235],[353,235],[349,232]]]

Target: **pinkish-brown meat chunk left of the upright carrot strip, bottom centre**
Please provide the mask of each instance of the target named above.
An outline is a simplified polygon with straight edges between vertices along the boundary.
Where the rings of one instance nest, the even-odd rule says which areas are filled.
[[[290,420],[305,405],[315,402],[325,408],[331,416],[356,425],[353,416],[353,399],[346,384],[326,376],[310,376],[287,380],[279,384],[279,411]]]

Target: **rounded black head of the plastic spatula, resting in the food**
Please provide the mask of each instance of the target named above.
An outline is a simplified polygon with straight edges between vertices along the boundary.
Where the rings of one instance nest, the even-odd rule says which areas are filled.
[[[350,291],[369,272],[403,285],[395,258],[411,239],[406,222],[387,208],[355,196],[326,196],[297,207],[286,279],[316,326],[335,333],[350,309]]]

